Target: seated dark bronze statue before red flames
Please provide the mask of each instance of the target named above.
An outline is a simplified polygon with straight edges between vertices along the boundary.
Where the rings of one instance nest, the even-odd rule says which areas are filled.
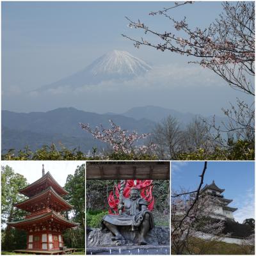
[[[114,234],[112,241],[125,240],[118,226],[131,226],[131,230],[140,230],[139,244],[147,244],[145,236],[154,227],[154,218],[147,209],[147,201],[141,198],[140,190],[132,188],[129,198],[120,200],[118,210],[119,214],[108,214],[102,219],[102,228],[108,228]]]

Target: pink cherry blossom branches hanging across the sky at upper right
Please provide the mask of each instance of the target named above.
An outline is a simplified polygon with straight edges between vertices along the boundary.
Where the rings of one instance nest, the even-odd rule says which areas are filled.
[[[186,18],[175,20],[168,15],[168,11],[191,2],[175,3],[175,6],[164,8],[149,15],[164,15],[173,23],[176,31],[182,31],[182,36],[177,36],[172,31],[154,31],[138,20],[129,21],[129,27],[142,29],[145,33],[158,38],[159,43],[148,42],[145,38],[132,38],[122,35],[134,42],[134,46],[147,45],[160,51],[176,52],[181,55],[195,56],[199,61],[189,61],[202,67],[209,68],[215,74],[236,90],[255,95],[255,8],[253,2],[238,2],[237,4],[223,3],[223,13],[220,18],[212,22],[205,29],[190,29]]]

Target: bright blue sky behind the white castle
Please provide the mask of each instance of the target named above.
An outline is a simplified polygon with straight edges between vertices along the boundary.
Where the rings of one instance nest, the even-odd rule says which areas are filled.
[[[185,188],[195,190],[202,173],[204,162],[172,162],[172,189]],[[229,205],[237,207],[234,218],[239,223],[246,218],[255,218],[254,204],[254,163],[248,161],[208,161],[204,177],[205,184],[215,184],[225,189],[225,198],[233,199]]]

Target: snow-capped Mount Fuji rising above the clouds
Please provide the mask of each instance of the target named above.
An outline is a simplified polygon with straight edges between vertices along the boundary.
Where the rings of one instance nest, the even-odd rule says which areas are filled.
[[[40,87],[37,92],[54,88],[79,88],[85,85],[99,84],[102,81],[127,81],[143,76],[152,67],[145,61],[132,56],[126,51],[111,51],[83,70],[51,84]]]

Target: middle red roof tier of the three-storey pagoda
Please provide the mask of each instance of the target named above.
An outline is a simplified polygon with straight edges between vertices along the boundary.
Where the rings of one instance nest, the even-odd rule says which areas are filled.
[[[60,202],[61,205],[61,211],[66,211],[69,210],[73,207],[73,205],[68,204],[68,202],[66,202],[60,195],[58,195],[58,193],[56,193],[56,191],[49,186],[47,189],[45,189],[44,191],[31,196],[30,198],[28,198],[27,200],[24,200],[23,202],[14,204],[15,207],[20,208],[22,210],[25,211],[29,211],[28,206],[29,205],[33,205],[36,204],[36,202],[38,202],[38,200],[44,200],[44,198],[48,198],[48,196],[51,195],[51,200],[58,200],[58,202]],[[31,212],[31,211],[29,211]]]

